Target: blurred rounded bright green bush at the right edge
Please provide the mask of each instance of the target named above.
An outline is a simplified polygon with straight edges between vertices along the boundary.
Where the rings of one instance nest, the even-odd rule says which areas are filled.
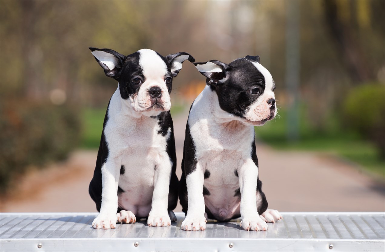
[[[376,144],[385,159],[385,85],[370,83],[352,88],[343,109],[348,127]]]

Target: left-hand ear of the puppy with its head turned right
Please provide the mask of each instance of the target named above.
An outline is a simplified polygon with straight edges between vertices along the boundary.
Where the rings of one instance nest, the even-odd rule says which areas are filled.
[[[218,60],[210,60],[208,62],[194,63],[200,73],[206,76],[206,84],[216,86],[224,81],[226,72],[230,70],[230,66]]]

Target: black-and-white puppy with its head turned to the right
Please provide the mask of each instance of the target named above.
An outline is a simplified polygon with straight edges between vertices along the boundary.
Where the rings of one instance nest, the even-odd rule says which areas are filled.
[[[179,199],[184,230],[204,230],[206,218],[242,217],[245,230],[268,229],[282,217],[268,209],[258,178],[255,125],[276,115],[271,74],[258,56],[229,65],[194,63],[206,87],[192,103],[186,126]]]

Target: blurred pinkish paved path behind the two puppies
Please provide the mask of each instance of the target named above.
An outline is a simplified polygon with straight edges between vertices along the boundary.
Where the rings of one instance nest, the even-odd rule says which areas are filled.
[[[187,114],[174,118],[180,177]],[[63,164],[31,172],[2,199],[1,212],[95,212],[88,184],[96,151],[75,151]],[[385,187],[348,163],[308,152],[257,144],[259,176],[269,207],[280,211],[385,211]],[[181,211],[178,204],[176,211]]]

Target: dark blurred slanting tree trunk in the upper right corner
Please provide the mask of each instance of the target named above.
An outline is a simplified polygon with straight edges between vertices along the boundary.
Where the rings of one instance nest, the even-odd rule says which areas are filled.
[[[324,0],[325,19],[334,40],[337,53],[346,67],[353,83],[368,82],[374,79],[372,67],[363,53],[358,40],[353,35],[353,22],[350,20],[350,1]]]

